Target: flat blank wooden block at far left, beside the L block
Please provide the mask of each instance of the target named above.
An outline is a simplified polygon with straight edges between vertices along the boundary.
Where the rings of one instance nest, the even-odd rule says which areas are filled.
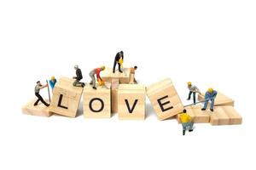
[[[49,111],[49,107],[46,107],[41,102],[38,105],[34,106],[34,103],[37,99],[32,99],[26,105],[22,107],[22,112],[26,115],[32,116],[52,116],[52,112]],[[46,103],[49,103],[49,100],[45,99]]]

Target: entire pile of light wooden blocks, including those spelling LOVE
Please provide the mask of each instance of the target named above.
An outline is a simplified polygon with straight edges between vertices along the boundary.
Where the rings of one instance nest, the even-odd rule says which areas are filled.
[[[183,112],[182,101],[170,78],[146,87],[131,83],[133,77],[131,77],[130,69],[124,69],[123,73],[117,71],[113,74],[112,69],[106,68],[102,71],[102,79],[106,82],[106,87],[97,85],[97,90],[95,90],[90,84],[85,84],[84,88],[73,87],[73,79],[60,77],[55,84],[49,108],[42,104],[32,105],[34,99],[25,105],[22,111],[37,116],[51,116],[55,113],[75,117],[80,99],[83,99],[85,118],[110,118],[113,113],[118,113],[121,120],[144,120],[147,95],[160,121],[173,117],[177,117],[178,120],[179,113]],[[204,96],[199,95],[199,100],[203,99]],[[198,105],[186,109],[195,123],[241,124],[241,116],[233,106],[234,100],[218,93],[214,113],[201,111]]]

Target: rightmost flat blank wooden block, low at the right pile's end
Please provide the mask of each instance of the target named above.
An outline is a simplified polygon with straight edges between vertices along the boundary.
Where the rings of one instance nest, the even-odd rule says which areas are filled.
[[[241,124],[242,118],[232,106],[221,106],[225,114],[230,117],[230,125]]]

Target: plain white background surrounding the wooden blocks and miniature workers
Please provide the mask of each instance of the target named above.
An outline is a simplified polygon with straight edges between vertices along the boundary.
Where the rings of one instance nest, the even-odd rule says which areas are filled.
[[[255,1],[0,1],[0,169],[255,168]],[[145,121],[26,116],[35,82],[78,64],[137,65],[145,85],[171,77],[183,104],[194,82],[236,100],[241,126],[182,135],[147,104]],[[47,97],[46,89],[42,91]]]

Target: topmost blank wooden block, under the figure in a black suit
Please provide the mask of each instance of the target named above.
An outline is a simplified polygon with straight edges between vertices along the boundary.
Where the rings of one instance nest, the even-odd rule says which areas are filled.
[[[115,71],[115,73],[113,73],[112,68],[106,68],[102,71],[101,76],[102,80],[105,82],[112,82],[113,79],[118,79],[120,83],[129,83],[130,74],[131,72],[129,68],[125,68],[123,73],[120,73],[119,71]]]

